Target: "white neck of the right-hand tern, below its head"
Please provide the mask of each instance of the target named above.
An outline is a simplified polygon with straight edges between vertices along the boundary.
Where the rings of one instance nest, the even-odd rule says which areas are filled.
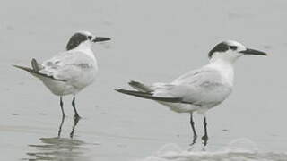
[[[222,81],[233,86],[233,63],[233,61],[229,61],[227,59],[211,59],[209,66],[222,74]]]

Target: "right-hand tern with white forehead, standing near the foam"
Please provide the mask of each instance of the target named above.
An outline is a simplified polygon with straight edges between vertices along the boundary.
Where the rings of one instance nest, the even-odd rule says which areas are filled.
[[[217,44],[208,53],[209,64],[187,72],[170,83],[145,85],[130,81],[136,90],[116,89],[120,93],[152,99],[177,113],[189,113],[190,125],[196,143],[196,128],[193,113],[204,116],[204,146],[207,143],[206,111],[218,106],[226,99],[233,87],[233,64],[242,55],[267,55],[265,52],[244,47],[237,41],[228,40]]]

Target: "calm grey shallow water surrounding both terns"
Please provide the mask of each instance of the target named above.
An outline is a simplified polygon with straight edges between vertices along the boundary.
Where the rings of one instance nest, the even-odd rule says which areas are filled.
[[[0,160],[286,160],[286,4],[4,1]],[[75,30],[90,30],[112,41],[93,47],[99,78],[77,96],[83,116],[77,124],[72,97],[65,97],[68,117],[59,136],[59,98],[11,64],[30,65],[32,57],[42,61],[63,51]],[[128,89],[129,80],[170,81],[206,64],[208,51],[225,39],[269,56],[245,56],[236,64],[233,93],[207,114],[210,139],[205,148],[200,139],[190,148],[188,114],[113,90]],[[196,115],[195,121],[202,135],[202,116]],[[226,150],[240,138],[250,140],[243,152]],[[249,143],[257,150],[248,148]],[[161,150],[166,147],[168,151]]]

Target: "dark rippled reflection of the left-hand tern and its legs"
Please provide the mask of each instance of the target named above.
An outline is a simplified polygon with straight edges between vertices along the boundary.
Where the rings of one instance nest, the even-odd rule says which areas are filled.
[[[62,117],[57,137],[40,138],[39,140],[41,141],[41,144],[29,145],[30,147],[37,148],[37,152],[27,153],[28,156],[33,157],[28,160],[89,160],[87,157],[83,156],[86,151],[86,149],[83,148],[85,143],[82,140],[74,139],[74,131],[76,125],[79,123],[79,118],[74,119],[74,125],[69,138],[61,137],[64,122],[65,117]]]

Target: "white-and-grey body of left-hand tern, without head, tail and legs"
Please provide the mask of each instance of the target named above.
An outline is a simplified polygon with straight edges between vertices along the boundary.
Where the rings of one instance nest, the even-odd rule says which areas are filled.
[[[40,72],[58,80],[40,78],[54,94],[63,96],[76,94],[96,78],[98,64],[90,48],[75,48],[46,61]]]

